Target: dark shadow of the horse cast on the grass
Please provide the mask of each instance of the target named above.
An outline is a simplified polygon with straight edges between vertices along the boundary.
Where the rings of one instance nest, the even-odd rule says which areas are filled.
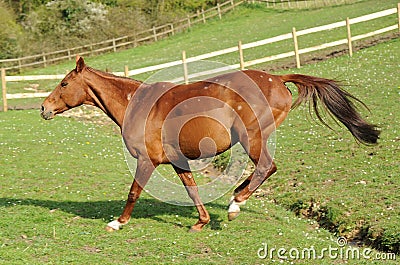
[[[117,218],[125,206],[125,201],[53,201],[39,199],[15,199],[15,198],[0,198],[0,207],[14,207],[19,205],[35,206],[47,208],[49,210],[59,209],[63,212],[70,213],[87,219],[102,219],[104,222],[109,222]],[[208,203],[206,207],[226,210],[227,205],[219,203]],[[179,217],[170,221],[170,218],[164,216],[176,216],[191,218],[193,224],[198,219],[198,213],[194,206],[184,207],[177,206],[153,198],[141,198],[135,205],[132,213],[132,219],[153,219],[157,222],[169,223],[174,226],[184,227],[179,222]],[[212,230],[222,230],[221,223],[224,217],[210,213],[211,221],[208,227]],[[187,227],[189,228],[189,227]]]

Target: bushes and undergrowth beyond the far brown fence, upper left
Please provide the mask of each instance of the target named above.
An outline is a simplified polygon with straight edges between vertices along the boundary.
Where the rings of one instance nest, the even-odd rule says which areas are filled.
[[[0,59],[131,35],[217,0],[1,0]]]

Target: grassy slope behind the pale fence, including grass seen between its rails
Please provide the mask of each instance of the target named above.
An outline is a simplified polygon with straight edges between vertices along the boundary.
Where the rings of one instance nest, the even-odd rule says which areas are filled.
[[[109,53],[106,55],[86,58],[87,63],[95,68],[108,69],[112,71],[123,71],[127,65],[129,69],[137,69],[144,66],[165,63],[181,59],[181,51],[186,50],[187,56],[195,56],[208,53],[211,51],[236,46],[239,40],[243,43],[274,37],[283,33],[291,32],[292,27],[297,30],[311,28],[319,25],[325,25],[346,17],[357,17],[393,8],[397,4],[397,0],[380,1],[379,5],[373,0],[366,0],[352,5],[336,6],[331,8],[310,9],[310,10],[270,10],[261,5],[249,5],[249,7],[241,6],[234,12],[224,16],[222,22],[218,19],[211,20],[207,24],[201,24],[193,27],[189,31],[177,34],[168,39],[144,45],[134,49],[121,51],[118,53]],[[374,20],[371,23],[361,23],[352,26],[353,34],[365,33],[377,28],[381,28],[396,23],[396,16],[392,15],[383,19]],[[229,25],[229,26],[227,26]],[[248,25],[251,25],[249,27]],[[311,34],[299,37],[299,46],[304,48],[307,46],[319,45],[322,42],[336,40],[338,36],[346,37],[345,29],[337,29],[326,32]],[[357,44],[357,43],[356,43]],[[346,47],[343,47],[346,48]],[[245,60],[252,60],[268,55],[288,52],[293,49],[291,40],[282,41],[272,45],[245,50]],[[322,53],[332,50],[325,50]],[[309,55],[302,56],[308,58]],[[211,58],[212,61],[219,63],[233,64],[238,63],[238,54]],[[293,63],[293,58],[282,61],[275,61],[256,67],[269,69],[277,64]],[[70,71],[74,67],[74,62],[66,62],[58,65],[51,65],[47,68],[33,69],[21,73],[22,75],[30,74],[62,74]],[[134,78],[145,80],[152,73],[142,74]],[[31,82],[8,83],[8,93],[26,92],[24,88],[30,87],[32,84],[39,84],[40,90],[52,90],[58,81],[43,80]],[[1,101],[1,99],[0,99]],[[38,106],[40,99],[23,99],[10,100],[10,108],[18,108],[21,106]]]

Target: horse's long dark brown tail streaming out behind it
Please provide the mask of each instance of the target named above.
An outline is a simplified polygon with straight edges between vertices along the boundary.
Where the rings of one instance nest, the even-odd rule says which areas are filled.
[[[358,141],[363,144],[377,143],[380,131],[375,125],[367,123],[360,116],[351,100],[358,101],[363,106],[365,104],[341,89],[335,80],[298,74],[282,75],[280,77],[284,83],[294,83],[298,88],[299,95],[293,103],[292,109],[308,101],[313,106],[318,119],[327,125],[318,110],[317,103],[319,99],[322,105],[343,123]]]

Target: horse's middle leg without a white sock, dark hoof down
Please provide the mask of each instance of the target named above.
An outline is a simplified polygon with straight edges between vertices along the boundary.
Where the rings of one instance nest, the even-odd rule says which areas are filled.
[[[198,232],[201,231],[208,222],[210,222],[210,215],[200,199],[197,184],[193,178],[192,172],[189,170],[189,164],[187,161],[184,163],[185,165],[182,167],[176,165],[173,166],[183,185],[185,185],[189,197],[192,199],[197,211],[199,212],[199,221],[190,228],[190,232]]]

